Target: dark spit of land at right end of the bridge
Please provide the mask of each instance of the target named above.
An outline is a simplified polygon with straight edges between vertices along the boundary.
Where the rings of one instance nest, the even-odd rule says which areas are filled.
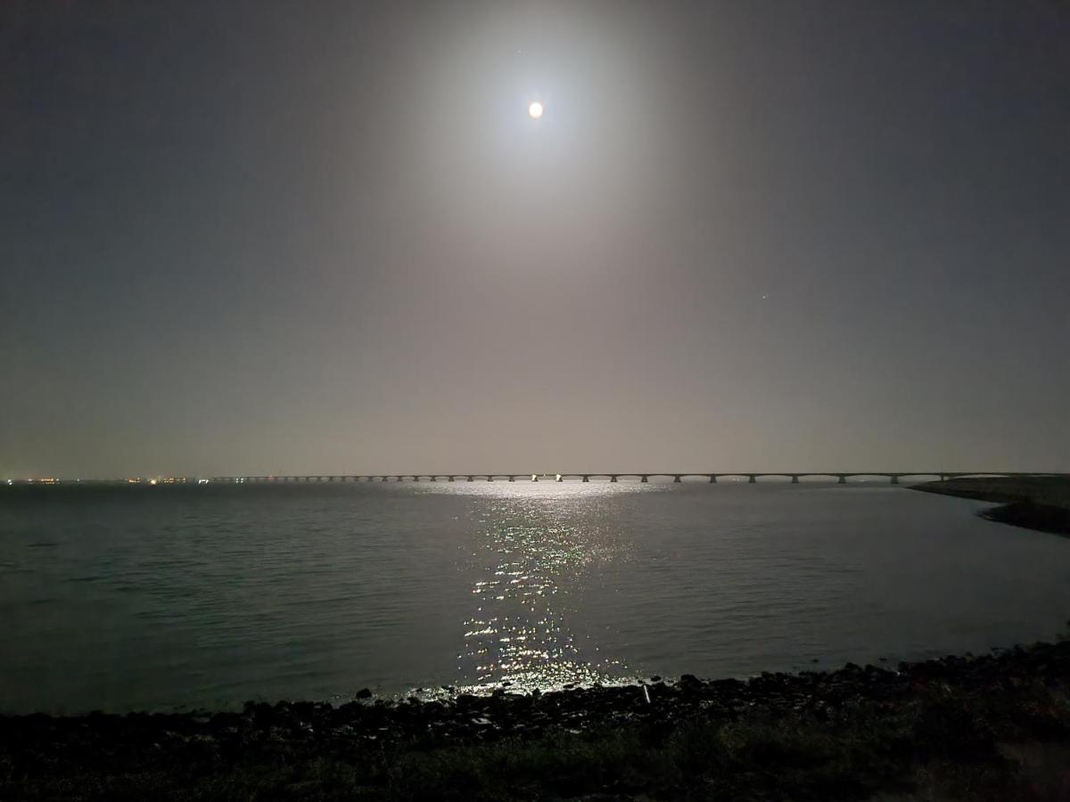
[[[915,484],[927,493],[993,502],[989,521],[1070,535],[1070,478],[1065,476],[970,476]]]

